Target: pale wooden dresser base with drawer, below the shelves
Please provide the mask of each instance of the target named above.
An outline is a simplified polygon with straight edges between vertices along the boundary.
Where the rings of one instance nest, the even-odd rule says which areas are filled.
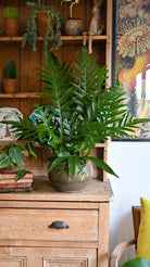
[[[35,178],[32,193],[0,194],[0,267],[108,267],[109,181],[55,192]],[[68,228],[48,226],[64,221]]]

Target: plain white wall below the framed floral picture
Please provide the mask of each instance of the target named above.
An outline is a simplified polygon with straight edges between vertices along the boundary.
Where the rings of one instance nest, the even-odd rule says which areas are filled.
[[[109,165],[120,178],[108,175],[114,201],[110,208],[110,253],[114,246],[134,238],[132,205],[140,205],[140,196],[150,200],[150,142],[110,141]],[[121,264],[134,256],[134,247],[121,258]]]

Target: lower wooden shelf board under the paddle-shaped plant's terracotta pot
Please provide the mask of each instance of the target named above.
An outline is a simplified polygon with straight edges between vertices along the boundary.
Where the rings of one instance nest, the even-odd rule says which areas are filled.
[[[0,93],[1,99],[39,99],[41,92]]]

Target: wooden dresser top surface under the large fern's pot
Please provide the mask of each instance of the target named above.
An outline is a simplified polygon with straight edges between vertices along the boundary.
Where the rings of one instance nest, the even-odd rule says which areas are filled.
[[[0,201],[3,200],[110,202],[113,201],[113,192],[109,180],[95,178],[83,192],[61,193],[51,187],[47,177],[35,177],[33,192],[0,193]]]

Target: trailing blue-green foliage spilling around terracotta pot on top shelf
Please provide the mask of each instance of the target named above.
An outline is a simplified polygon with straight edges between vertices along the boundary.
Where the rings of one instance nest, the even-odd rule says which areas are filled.
[[[33,12],[28,14],[27,23],[26,23],[26,33],[23,36],[22,48],[25,47],[26,41],[28,40],[33,50],[36,51],[36,43],[38,37],[38,29],[36,23],[36,14],[38,11],[46,11],[48,15],[47,20],[47,33],[43,36],[43,51],[45,51],[45,61],[47,59],[47,51],[49,42],[53,42],[51,47],[51,51],[53,49],[59,49],[62,44],[61,41],[61,25],[62,17],[60,13],[54,9],[53,5],[46,7],[41,4],[41,0],[37,0],[37,2],[26,2],[26,5],[33,9]],[[54,20],[54,28],[51,27],[50,22]]]

